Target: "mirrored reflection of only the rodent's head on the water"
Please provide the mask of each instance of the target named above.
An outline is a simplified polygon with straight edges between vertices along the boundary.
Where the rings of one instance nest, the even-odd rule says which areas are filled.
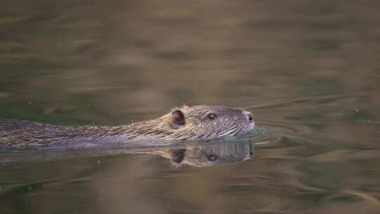
[[[249,160],[253,153],[253,146],[250,141],[229,141],[203,144],[202,146],[186,146],[179,149],[156,149],[140,153],[158,154],[169,158],[177,167],[181,165],[208,167]]]

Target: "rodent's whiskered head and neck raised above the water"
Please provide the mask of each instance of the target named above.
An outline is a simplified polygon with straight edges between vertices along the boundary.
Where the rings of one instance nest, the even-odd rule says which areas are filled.
[[[228,139],[253,130],[252,114],[225,106],[182,106],[156,120],[129,125],[134,139],[197,140]]]

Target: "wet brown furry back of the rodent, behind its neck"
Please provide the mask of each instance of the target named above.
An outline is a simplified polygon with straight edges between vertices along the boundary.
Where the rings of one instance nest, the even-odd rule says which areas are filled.
[[[0,146],[86,147],[125,141],[125,127],[62,126],[26,120],[0,120]]]

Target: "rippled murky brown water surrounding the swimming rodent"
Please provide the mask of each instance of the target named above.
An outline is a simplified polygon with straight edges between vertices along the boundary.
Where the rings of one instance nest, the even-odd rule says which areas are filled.
[[[0,168],[0,213],[380,213],[379,6],[1,2],[1,118],[119,125],[204,103],[260,130],[189,143],[228,160],[203,167],[170,163],[186,145],[1,151],[27,163]]]

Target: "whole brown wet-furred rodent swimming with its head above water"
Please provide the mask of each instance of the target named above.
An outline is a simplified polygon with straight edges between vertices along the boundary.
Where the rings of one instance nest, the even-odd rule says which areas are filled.
[[[182,106],[160,118],[120,126],[60,126],[26,120],[0,120],[0,146],[125,144],[132,141],[210,141],[251,130],[252,114],[225,106]]]

